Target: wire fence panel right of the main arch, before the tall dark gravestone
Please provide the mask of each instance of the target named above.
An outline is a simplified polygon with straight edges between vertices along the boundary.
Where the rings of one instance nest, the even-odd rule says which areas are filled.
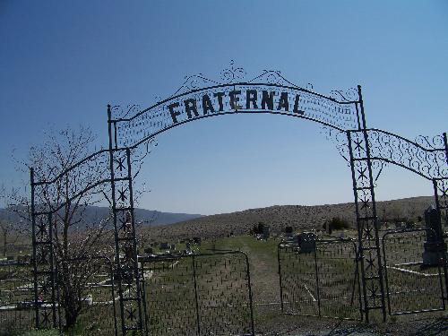
[[[423,263],[426,233],[429,229],[393,231],[383,236],[389,314],[444,310],[443,267]]]

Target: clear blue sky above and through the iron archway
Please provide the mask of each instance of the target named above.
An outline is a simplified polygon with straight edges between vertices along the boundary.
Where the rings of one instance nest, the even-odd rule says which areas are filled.
[[[50,127],[90,125],[106,106],[151,106],[185,75],[279,70],[328,94],[361,84],[367,125],[414,139],[448,131],[446,1],[0,1],[0,183]],[[319,126],[285,116],[218,116],[158,137],[139,206],[203,214],[351,202],[345,161]],[[387,168],[377,199],[432,194]]]

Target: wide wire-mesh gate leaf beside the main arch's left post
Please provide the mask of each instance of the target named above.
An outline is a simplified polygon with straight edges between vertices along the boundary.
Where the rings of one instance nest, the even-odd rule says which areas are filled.
[[[139,259],[150,335],[254,335],[249,263],[243,252]]]

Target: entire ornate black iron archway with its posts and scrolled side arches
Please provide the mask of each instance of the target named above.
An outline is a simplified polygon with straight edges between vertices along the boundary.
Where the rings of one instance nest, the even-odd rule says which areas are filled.
[[[202,74],[187,76],[179,90],[150,108],[108,106],[108,150],[98,151],[61,173],[64,178],[72,169],[92,163],[103,165],[110,177],[82,185],[81,193],[105,183],[111,185],[111,203],[115,228],[116,274],[120,297],[122,331],[142,330],[142,290],[137,262],[133,161],[139,148],[148,146],[158,134],[178,125],[210,117],[242,113],[268,113],[294,116],[314,121],[336,142],[340,155],[351,169],[358,223],[358,254],[362,280],[362,312],[368,321],[372,311],[379,310],[385,319],[383,266],[375,207],[375,181],[385,164],[407,168],[433,183],[435,204],[441,218],[448,212],[448,144],[446,134],[435,138],[418,137],[409,141],[399,135],[370,129],[361,87],[348,91],[335,90],[326,96],[312,86],[301,88],[286,80],[280,72],[263,71],[245,80],[246,72],[231,63],[221,73],[221,80]],[[57,178],[56,178],[57,180]],[[53,267],[51,215],[55,209],[35,208],[40,204],[39,188],[53,181],[34,181],[31,170],[33,207],[33,254],[36,323],[56,323],[55,271]],[[446,271],[445,271],[446,280]],[[40,286],[40,284],[47,284]],[[40,309],[40,289],[53,310]]]

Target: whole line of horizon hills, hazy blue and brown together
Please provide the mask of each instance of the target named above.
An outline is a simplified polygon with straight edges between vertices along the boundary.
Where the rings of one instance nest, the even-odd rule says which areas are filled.
[[[434,197],[421,196],[376,202],[381,219],[409,218],[417,220],[425,209],[434,203]],[[86,223],[96,223],[108,217],[107,207],[88,206],[83,213]],[[325,205],[273,205],[211,216],[135,209],[135,220],[142,223],[143,234],[151,240],[170,240],[186,237],[225,237],[230,233],[246,234],[254,224],[262,221],[272,232],[283,232],[287,226],[298,229],[320,229],[326,220],[340,217],[355,228],[354,203]],[[17,215],[0,209],[0,220],[19,220]],[[145,228],[146,227],[146,228]],[[149,228],[151,227],[151,228]]]

